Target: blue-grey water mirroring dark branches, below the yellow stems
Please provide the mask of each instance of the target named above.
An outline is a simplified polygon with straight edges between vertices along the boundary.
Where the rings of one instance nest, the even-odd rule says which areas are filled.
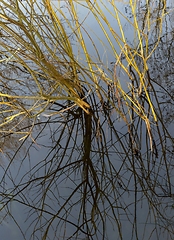
[[[172,239],[173,113],[166,114],[169,102],[163,99],[166,96],[173,106],[173,91],[167,89],[172,76],[167,71],[166,77],[159,66],[167,62],[172,69],[173,63],[172,41],[164,42],[164,36],[168,36],[165,28],[163,44],[159,43],[146,73],[158,118],[158,125],[151,125],[151,141],[146,123],[134,111],[128,131],[113,105],[99,102],[92,92],[85,99],[90,114],[72,107],[71,101],[54,102],[49,107],[52,112],[69,109],[63,117],[42,113],[35,121],[34,141],[26,138],[14,148],[13,134],[1,138],[8,145],[8,150],[2,150],[10,160],[1,169],[2,217],[15,222],[21,239],[30,235],[33,239]],[[152,35],[152,49],[154,39]],[[138,76],[129,71],[135,87]],[[108,86],[112,103],[118,104],[115,92],[114,86]],[[144,92],[139,102],[150,112]],[[18,128],[30,129],[32,122],[27,121]],[[25,224],[18,218],[24,213]]]

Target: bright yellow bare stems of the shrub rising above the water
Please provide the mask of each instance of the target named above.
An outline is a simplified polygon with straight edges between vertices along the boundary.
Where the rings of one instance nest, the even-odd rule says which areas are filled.
[[[136,96],[133,95],[133,98],[131,98],[126,93],[126,90],[122,89],[120,83],[121,81],[117,76],[116,72],[114,74],[110,72],[110,76],[107,75],[106,77],[105,75],[103,77],[101,67],[98,67],[98,64],[101,64],[106,70],[108,69],[108,67],[106,67],[102,63],[100,54],[98,52],[95,42],[93,41],[92,35],[84,27],[84,21],[80,22],[77,14],[77,9],[75,8],[75,3],[73,1],[70,1],[67,7],[73,26],[70,20],[66,18],[65,14],[61,10],[60,3],[59,7],[57,7],[57,5],[54,5],[52,1],[43,0],[43,8],[41,7],[39,2],[28,0],[26,1],[26,3],[17,0],[13,2],[14,4],[9,4],[5,1],[1,1],[1,3],[4,4],[5,8],[7,8],[12,13],[11,15],[7,14],[6,11],[1,7],[0,17],[3,19],[3,21],[1,21],[0,25],[6,33],[11,35],[11,42],[15,46],[15,48],[8,46],[8,44],[4,45],[4,43],[1,41],[1,46],[3,46],[3,48],[7,52],[10,52],[12,55],[11,57],[8,57],[8,54],[5,53],[7,58],[1,59],[0,62],[3,63],[6,61],[7,63],[9,63],[13,59],[13,62],[15,62],[16,64],[24,66],[31,74],[37,86],[34,96],[29,96],[29,94],[19,96],[14,93],[6,94],[1,92],[1,97],[21,99],[21,101],[27,99],[33,100],[33,105],[29,109],[26,109],[22,102],[18,102],[21,107],[19,111],[23,112],[24,110],[27,114],[30,114],[30,117],[35,117],[37,114],[46,111],[51,101],[59,100],[72,101],[89,114],[88,109],[90,109],[90,105],[87,103],[87,101],[83,100],[85,94],[82,88],[86,88],[87,92],[89,90],[92,93],[96,92],[99,101],[103,102],[104,99],[107,99],[107,101],[109,101],[112,106],[115,107],[118,113],[121,114],[123,119],[125,119],[125,116],[122,115],[123,112],[119,111],[119,108],[117,108],[115,103],[113,103],[111,99],[109,99],[107,91],[102,88],[103,83],[109,86],[110,82],[111,84],[115,84],[118,101],[119,98],[122,98],[124,100],[123,105],[127,106],[130,120],[132,121],[131,109],[134,109],[134,111],[139,114],[139,116],[141,116],[144,120],[147,119],[147,115],[145,115],[145,111],[143,111],[143,108],[141,108],[141,106],[139,105]],[[104,15],[103,10],[100,7],[100,3],[102,4],[102,7],[107,10],[108,14],[110,14],[114,18],[114,20],[117,21],[121,35],[119,35],[111,26],[107,16]],[[153,118],[155,122],[157,122],[155,111],[153,109],[153,105],[147,91],[145,74],[148,71],[147,60],[154,52],[155,48],[159,43],[162,29],[162,20],[165,14],[165,5],[161,14],[161,27],[157,44],[153,51],[149,54],[149,56],[147,56],[149,41],[148,35],[150,31],[150,11],[153,10],[152,7],[149,7],[148,0],[146,16],[147,20],[145,23],[145,28],[143,30],[140,30],[138,26],[138,20],[136,16],[136,0],[130,0],[129,3],[126,3],[131,7],[133,14],[133,22],[130,22],[130,20],[126,18],[126,16],[124,16],[124,14],[117,8],[114,1],[110,2],[113,11],[111,11],[109,7],[107,7],[102,1],[98,2],[94,0],[93,3],[85,1],[86,5],[82,3],[79,4],[83,5],[88,10],[86,17],[89,15],[89,13],[93,15],[94,19],[100,26],[103,35],[106,37],[110,46],[107,46],[107,48],[111,48],[109,51],[111,51],[113,56],[116,58],[115,71],[116,67],[120,66],[123,72],[132,79],[128,71],[128,67],[132,66],[134,68],[135,74],[137,74],[139,77],[139,94],[141,94],[143,88],[147,97],[147,101],[149,102]],[[24,13],[25,11],[23,9],[26,11],[27,14]],[[61,16],[69,25],[72,31],[69,35],[67,34],[55,10],[59,11]],[[41,13],[42,18],[38,17],[37,11]],[[49,16],[50,20],[47,16]],[[126,42],[127,40],[125,37],[125,33],[123,30],[124,28],[122,26],[120,16],[124,17],[124,19],[126,19],[126,21],[131,26],[134,26],[136,39],[135,49],[129,46]],[[8,24],[6,24],[6,22],[8,22]],[[105,24],[105,26],[103,23]],[[12,27],[12,24],[13,26],[16,26],[18,29],[20,29],[20,34]],[[85,43],[84,32],[90,39],[90,42],[97,54],[97,58],[89,54],[88,47]],[[118,53],[118,50],[116,50],[114,42],[111,41],[110,34],[115,40],[115,43],[117,43],[120,47],[120,54]],[[83,53],[85,54],[85,59],[80,59],[79,56],[74,55],[74,50],[69,39],[70,36],[76,38],[78,51],[83,51]],[[143,47],[144,40],[145,50]],[[102,39],[100,39],[100,42],[104,46],[104,42]],[[16,50],[17,45],[18,48]],[[56,54],[57,52],[59,54]],[[125,56],[127,65],[125,63],[122,63],[122,56]],[[139,57],[143,63],[142,71],[138,68],[136,64],[136,57]],[[82,60],[86,62],[87,65],[83,64]],[[33,65],[30,66],[27,61],[31,61]],[[36,70],[34,70],[33,68],[34,65],[37,66]],[[41,72],[41,75],[45,78],[45,80],[47,79],[46,84],[49,85],[49,88],[46,91],[44,90],[44,85],[42,81],[38,77],[38,72]],[[82,80],[79,78],[77,72],[79,72],[79,74],[83,78]],[[47,102],[45,104],[39,103],[39,101],[43,100],[46,100]],[[131,104],[134,105],[133,108],[132,105],[129,104],[129,101],[131,102]],[[41,107],[41,110],[38,110],[38,112],[36,112],[37,108],[39,107]],[[32,111],[34,111],[34,115],[31,114]],[[141,113],[139,113],[139,111],[141,111]],[[12,120],[13,118],[10,119]]]

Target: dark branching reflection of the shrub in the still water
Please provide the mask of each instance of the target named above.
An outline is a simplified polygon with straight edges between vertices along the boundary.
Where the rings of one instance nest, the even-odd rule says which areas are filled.
[[[152,97],[155,91],[149,94]],[[32,153],[35,157],[33,160],[29,157],[31,167],[25,175],[21,166],[16,174],[17,178],[18,174],[23,176],[19,184],[15,176],[9,175],[14,182],[10,196],[30,210],[27,223],[31,216],[35,219],[28,232],[39,239],[49,239],[52,234],[61,239],[107,239],[108,234],[110,239],[107,229],[113,226],[118,239],[127,239],[131,234],[139,239],[150,239],[152,234],[156,239],[163,237],[165,231],[173,236],[172,225],[168,224],[172,219],[167,213],[173,187],[170,134],[164,134],[167,129],[163,126],[152,125],[151,152],[144,120],[132,114],[131,134],[127,128],[121,132],[116,114],[110,114],[114,110],[112,105],[93,104],[97,98],[94,93],[88,101],[93,106],[91,114],[75,106],[74,111],[64,113],[66,120],[62,121],[62,116],[48,120],[50,138],[46,140],[52,141],[52,145],[46,145],[44,158],[38,162]],[[148,108],[148,101],[141,100],[144,108]],[[53,104],[51,110],[57,112],[65,106]],[[42,131],[45,124],[42,123]],[[120,126],[123,125],[121,122]],[[36,142],[40,132],[34,139]],[[26,160],[26,155],[20,158],[21,165]],[[1,184],[8,178],[7,173],[2,176]],[[1,194],[3,208],[8,209],[11,197]]]

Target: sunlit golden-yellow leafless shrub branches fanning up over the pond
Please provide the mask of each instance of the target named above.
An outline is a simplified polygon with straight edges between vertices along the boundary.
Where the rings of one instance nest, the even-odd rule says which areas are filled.
[[[1,81],[3,88],[0,95],[3,105],[8,106],[8,112],[7,110],[1,111],[1,113],[6,113],[6,116],[2,118],[0,126],[10,123],[11,127],[8,131],[13,131],[14,126],[17,126],[15,119],[18,119],[18,122],[19,119],[20,121],[26,118],[35,119],[43,112],[52,114],[48,110],[49,106],[55,101],[62,102],[62,100],[74,102],[73,106],[77,105],[89,114],[91,106],[86,98],[90,93],[96,92],[99,101],[107,100],[112,104],[115,111],[126,121],[129,132],[129,119],[132,121],[131,109],[144,119],[152,147],[150,121],[154,119],[156,123],[157,118],[148,94],[148,59],[157,47],[161,36],[165,2],[159,16],[158,41],[151,52],[148,52],[152,24],[149,16],[153,11],[153,4],[149,5],[147,1],[146,21],[143,29],[139,28],[136,17],[137,1],[124,3],[132,11],[132,21],[117,8],[117,1],[107,2],[107,4],[102,1],[81,1],[78,4],[81,7],[84,6],[85,11],[93,15],[102,29],[103,36],[108,41],[107,48],[110,48],[113,59],[115,59],[114,69],[109,71],[109,74],[105,73],[106,71],[108,73],[108,66],[103,64],[101,53],[93,41],[94,32],[91,32],[92,30],[80,21],[74,1],[69,1],[66,5],[70,13],[68,18],[63,13],[59,1],[10,1],[10,3],[1,1],[1,64],[3,69],[9,69],[6,71],[12,71],[11,65],[17,66],[19,72],[15,79],[8,79],[2,73],[4,80]],[[107,14],[103,14],[101,6]],[[142,14],[145,15],[145,13]],[[118,23],[120,34],[117,34],[111,26],[110,17]],[[120,18],[124,18],[134,28],[134,47],[129,46],[127,42]],[[63,24],[63,21],[66,24]],[[69,31],[66,30],[67,26]],[[85,38],[90,41],[97,57],[94,58],[89,54],[89,46],[86,45]],[[116,49],[111,38],[119,48]],[[104,45],[102,38],[99,37],[99,40]],[[84,56],[83,61],[74,53],[73,42],[76,42],[81,56]],[[141,68],[137,66],[135,58],[141,61]],[[83,62],[86,64],[84,65]],[[118,68],[121,68],[131,80],[128,85],[131,92],[129,95],[122,88],[122,79],[117,73]],[[137,74],[136,79],[132,77],[129,69]],[[136,88],[132,85],[135,80],[137,81]],[[112,101],[108,91],[115,92],[118,104]],[[150,105],[149,110],[144,109],[140,104],[139,99],[143,91]],[[26,104],[26,101],[29,104]],[[129,117],[125,115],[122,106],[127,108]],[[57,114],[61,113],[57,112]],[[25,136],[28,134],[30,131]]]

